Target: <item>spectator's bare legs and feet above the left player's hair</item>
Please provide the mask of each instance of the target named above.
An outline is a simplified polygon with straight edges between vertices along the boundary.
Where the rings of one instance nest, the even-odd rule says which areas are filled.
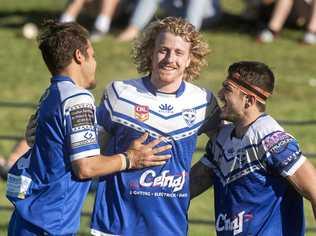
[[[80,11],[85,4],[93,0],[72,0],[65,12],[60,17],[60,22],[76,21]],[[100,41],[105,34],[110,30],[112,18],[118,8],[119,3],[125,2],[124,0],[100,0],[100,12],[95,19],[93,30],[90,39],[93,42]],[[124,3],[121,3],[124,4]]]

